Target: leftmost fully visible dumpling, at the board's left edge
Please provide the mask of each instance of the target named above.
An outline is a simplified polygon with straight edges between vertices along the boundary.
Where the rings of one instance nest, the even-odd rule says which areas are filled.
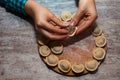
[[[39,53],[41,56],[46,57],[51,53],[51,50],[49,49],[48,46],[43,45],[39,47]]]

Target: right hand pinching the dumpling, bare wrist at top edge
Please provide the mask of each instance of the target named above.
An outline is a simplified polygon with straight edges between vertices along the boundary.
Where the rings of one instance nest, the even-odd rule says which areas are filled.
[[[79,34],[97,18],[97,11],[94,0],[79,0],[78,10],[73,17],[71,25],[77,25]]]

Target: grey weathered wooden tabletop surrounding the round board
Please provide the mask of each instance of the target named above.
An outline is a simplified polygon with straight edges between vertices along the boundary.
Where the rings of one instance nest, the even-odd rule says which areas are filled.
[[[56,14],[64,9],[76,10],[71,6],[74,0],[52,1],[41,3]],[[95,74],[80,77],[66,77],[49,70],[39,57],[30,20],[0,7],[0,80],[120,80],[120,0],[96,0],[96,5],[97,21],[107,37],[108,52]]]

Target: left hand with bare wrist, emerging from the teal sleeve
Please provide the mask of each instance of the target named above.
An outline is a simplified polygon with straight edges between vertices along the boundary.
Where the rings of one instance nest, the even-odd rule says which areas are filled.
[[[67,37],[68,31],[64,29],[67,25],[63,24],[50,10],[38,4],[33,0],[28,0],[25,5],[25,11],[35,21],[36,29],[46,37],[52,40],[64,39]],[[49,23],[53,21],[58,27]]]

